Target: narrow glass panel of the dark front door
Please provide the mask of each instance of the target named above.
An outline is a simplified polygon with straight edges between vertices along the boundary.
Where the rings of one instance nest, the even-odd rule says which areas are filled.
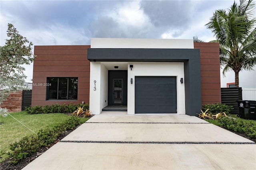
[[[113,105],[123,105],[123,79],[113,79]]]

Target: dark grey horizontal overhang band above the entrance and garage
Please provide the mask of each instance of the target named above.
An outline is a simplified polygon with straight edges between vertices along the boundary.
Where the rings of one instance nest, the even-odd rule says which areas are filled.
[[[196,56],[199,49],[161,48],[88,48],[89,61],[186,62]]]

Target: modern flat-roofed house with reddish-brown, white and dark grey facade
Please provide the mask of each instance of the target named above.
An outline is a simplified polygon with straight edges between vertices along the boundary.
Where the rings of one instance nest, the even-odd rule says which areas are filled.
[[[196,116],[202,104],[221,102],[218,43],[92,38],[35,46],[34,54],[32,106],[84,102],[93,114],[122,105],[128,114]]]

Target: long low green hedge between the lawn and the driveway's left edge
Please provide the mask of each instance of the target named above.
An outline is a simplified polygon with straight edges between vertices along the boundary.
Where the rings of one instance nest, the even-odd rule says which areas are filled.
[[[37,135],[25,136],[18,142],[14,142],[10,145],[11,152],[7,154],[12,157],[10,163],[16,164],[19,160],[26,158],[42,146],[49,146],[52,144],[57,137],[62,134],[65,130],[72,130],[77,125],[83,123],[81,119],[77,117],[70,117],[64,123],[56,125],[52,129],[41,129]]]

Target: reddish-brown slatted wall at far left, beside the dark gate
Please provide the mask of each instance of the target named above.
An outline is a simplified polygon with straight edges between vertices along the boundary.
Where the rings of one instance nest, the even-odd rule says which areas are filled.
[[[2,108],[8,109],[8,112],[21,111],[22,91],[9,93],[5,101],[0,105]]]

